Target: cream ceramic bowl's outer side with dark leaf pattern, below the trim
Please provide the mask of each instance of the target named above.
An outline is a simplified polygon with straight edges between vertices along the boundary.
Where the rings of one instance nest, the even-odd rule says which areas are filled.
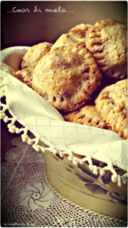
[[[126,217],[127,187],[118,187],[112,183],[110,171],[100,176],[93,174],[87,163],[74,166],[67,158],[59,155],[49,152],[44,156],[48,180],[67,199],[100,213]],[[105,166],[103,162],[97,163]],[[120,169],[118,172],[123,173]]]

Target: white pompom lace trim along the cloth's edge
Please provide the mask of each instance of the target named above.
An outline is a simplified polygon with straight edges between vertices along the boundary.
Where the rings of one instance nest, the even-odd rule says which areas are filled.
[[[5,90],[3,88],[1,98],[5,96],[4,94],[5,94]],[[10,110],[9,110],[8,105],[4,104],[1,101],[0,106],[1,106],[0,117],[5,123],[7,123],[7,127],[8,127],[9,132],[21,134],[22,141],[28,143],[29,145],[32,145],[32,147],[33,147],[33,149],[35,149],[35,151],[42,152],[42,153],[44,153],[46,151],[50,151],[54,154],[59,154],[60,157],[64,157],[65,155],[68,155],[67,159],[72,161],[72,163],[74,165],[84,164],[85,162],[88,162],[89,169],[95,175],[100,174],[101,176],[104,176],[106,171],[110,171],[112,173],[111,181],[116,183],[119,187],[121,187],[122,184],[127,183],[127,176],[128,176],[127,173],[124,174],[123,176],[119,175],[116,172],[112,163],[106,164],[105,167],[98,167],[98,166],[93,164],[91,156],[85,156],[84,158],[77,158],[73,154],[73,152],[68,153],[67,151],[58,150],[50,142],[42,143],[42,141],[40,140],[40,136],[30,137],[29,136],[29,132],[30,132],[29,129],[25,125],[23,126],[23,124],[21,124],[17,120],[16,117],[14,117],[14,116],[12,116],[12,114],[10,114]],[[8,113],[7,113],[7,111],[8,111]],[[16,126],[16,122],[21,125],[20,128]]]

